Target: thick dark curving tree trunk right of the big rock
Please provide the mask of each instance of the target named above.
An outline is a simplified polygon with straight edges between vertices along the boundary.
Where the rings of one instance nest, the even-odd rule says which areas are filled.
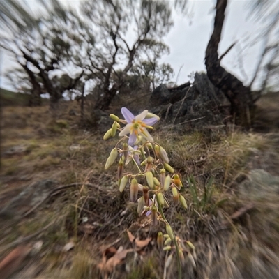
[[[220,66],[218,46],[225,20],[227,0],[217,0],[214,29],[206,48],[205,65],[212,84],[221,89],[231,103],[231,114],[237,125],[250,128],[254,101],[249,87]]]

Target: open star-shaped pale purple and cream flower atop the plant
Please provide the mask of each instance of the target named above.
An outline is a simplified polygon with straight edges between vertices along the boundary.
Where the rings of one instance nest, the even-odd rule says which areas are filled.
[[[158,117],[145,119],[148,114],[148,110],[144,110],[139,115],[134,116],[126,107],[121,108],[121,113],[127,121],[127,125],[121,130],[119,136],[122,137],[123,135],[130,134],[128,145],[133,146],[138,135],[142,135],[142,137],[145,137],[146,140],[149,140],[149,142],[153,142],[153,137],[149,134],[149,131],[146,130],[146,128],[152,128],[151,125],[158,121]]]

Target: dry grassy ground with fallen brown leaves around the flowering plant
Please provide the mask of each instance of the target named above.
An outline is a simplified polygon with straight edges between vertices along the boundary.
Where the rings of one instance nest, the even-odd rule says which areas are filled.
[[[164,209],[185,244],[182,278],[279,278],[278,105],[259,100],[250,131],[153,130],[188,204]],[[177,278],[175,255],[156,244],[165,228],[119,193],[116,165],[104,170],[113,121],[88,130],[79,113],[77,102],[55,119],[48,106],[3,108],[0,278]]]

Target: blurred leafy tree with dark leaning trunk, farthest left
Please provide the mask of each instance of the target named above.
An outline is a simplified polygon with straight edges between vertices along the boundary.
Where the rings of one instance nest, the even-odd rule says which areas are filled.
[[[41,1],[36,12],[25,3],[1,1],[0,26],[6,30],[0,46],[28,76],[32,105],[40,105],[40,94],[45,92],[54,105],[64,91],[76,86],[84,71],[70,65],[70,57],[80,54],[84,34],[92,43],[93,36],[72,10],[62,8],[58,1]],[[67,84],[54,82],[54,74],[61,75],[67,66],[75,77],[68,74]]]

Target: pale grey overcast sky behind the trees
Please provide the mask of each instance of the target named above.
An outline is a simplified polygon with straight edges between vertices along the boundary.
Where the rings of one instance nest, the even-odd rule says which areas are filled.
[[[78,1],[70,1],[70,5],[78,6]],[[174,3],[170,3],[170,5],[174,6]],[[204,56],[206,45],[213,31],[215,5],[216,1],[188,1],[188,15],[180,13],[179,10],[173,10],[174,27],[164,38],[165,43],[170,48],[170,54],[163,56],[161,62],[169,63],[174,68],[175,75],[173,80],[177,84],[188,82],[188,75],[192,72],[206,70]],[[259,23],[248,17],[249,12],[248,1],[229,1],[222,40],[219,45],[220,55],[238,40],[238,46],[232,48],[224,57],[221,65],[230,73],[236,75],[244,84],[248,84],[252,80],[262,49],[260,42],[246,48],[241,56],[245,71],[243,73],[238,63],[240,47],[245,45],[245,38],[249,34],[255,33],[260,27]],[[3,78],[3,73],[13,66],[15,66],[15,63],[12,59],[6,52],[2,52],[0,86],[5,89],[13,89],[8,81]]]

